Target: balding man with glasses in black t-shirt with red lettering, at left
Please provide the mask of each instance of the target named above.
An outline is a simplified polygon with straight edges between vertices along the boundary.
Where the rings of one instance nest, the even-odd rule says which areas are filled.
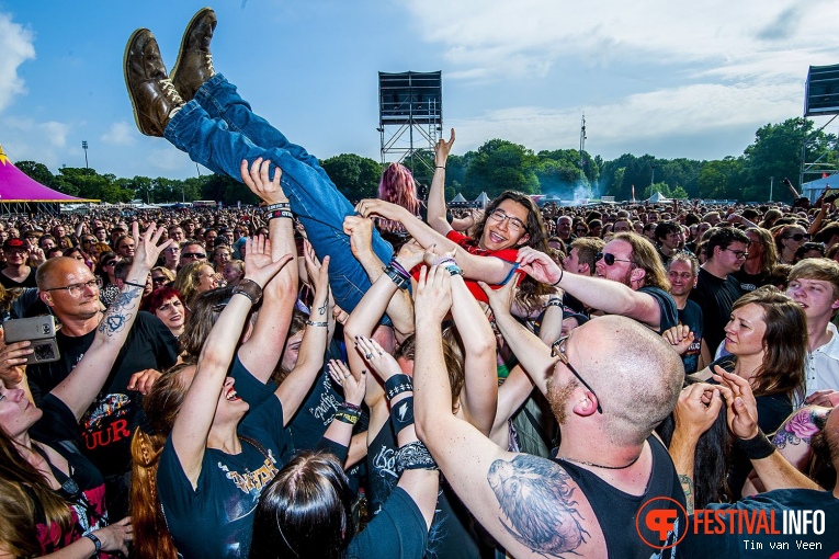
[[[146,253],[157,256],[151,250]],[[79,363],[93,343],[104,315],[97,278],[83,262],[67,256],[48,260],[38,267],[36,280],[41,299],[61,323],[56,334],[60,360],[26,367],[32,396],[38,403]],[[132,430],[143,413],[137,392],[128,388],[132,375],[146,369],[165,370],[177,358],[178,341],[169,329],[148,312],[139,312],[109,383],[79,421],[82,452],[105,476],[109,513],[115,517],[128,512]]]

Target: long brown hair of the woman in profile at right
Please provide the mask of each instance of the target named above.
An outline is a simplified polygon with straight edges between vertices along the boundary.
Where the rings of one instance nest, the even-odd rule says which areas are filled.
[[[755,375],[755,396],[789,393],[804,399],[807,319],[801,306],[776,287],[759,287],[737,299],[732,310],[746,305],[763,309],[763,362]]]

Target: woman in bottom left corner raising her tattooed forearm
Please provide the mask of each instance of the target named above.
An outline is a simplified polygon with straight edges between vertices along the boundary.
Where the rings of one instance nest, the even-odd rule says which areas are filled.
[[[138,240],[128,273],[143,282],[159,253],[155,228]],[[78,297],[87,284],[55,286]],[[95,284],[93,284],[95,288]],[[0,556],[92,557],[128,552],[129,518],[109,526],[104,479],[80,452],[77,422],[97,398],[137,316],[141,289],[126,285],[90,349],[69,376],[35,407],[26,379],[31,342],[0,345]],[[129,386],[149,388],[145,374]],[[103,555],[103,557],[109,557]]]

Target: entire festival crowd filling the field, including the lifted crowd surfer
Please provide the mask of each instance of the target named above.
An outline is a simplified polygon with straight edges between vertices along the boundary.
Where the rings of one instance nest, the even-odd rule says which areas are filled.
[[[452,130],[428,199],[353,204],[215,27],[171,73],[137,30],[126,84],[260,207],[0,218],[3,323],[60,324],[0,340],[0,558],[761,556],[695,527],[766,510],[839,550],[829,196],[456,210]]]

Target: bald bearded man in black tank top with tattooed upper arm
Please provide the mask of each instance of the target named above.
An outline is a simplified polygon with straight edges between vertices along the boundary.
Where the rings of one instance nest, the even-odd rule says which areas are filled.
[[[562,443],[553,459],[510,453],[440,413],[452,406],[441,342],[451,275],[423,270],[416,290],[416,427],[446,481],[514,557],[674,557],[668,546],[683,526],[677,523],[664,540],[644,523],[639,533],[633,526],[642,507],[670,515],[685,503],[653,434],[679,397],[679,356],[651,330],[619,316],[596,318],[548,347],[504,311],[509,294],[488,297],[504,339],[547,397]],[[649,503],[659,497],[666,499]]]

